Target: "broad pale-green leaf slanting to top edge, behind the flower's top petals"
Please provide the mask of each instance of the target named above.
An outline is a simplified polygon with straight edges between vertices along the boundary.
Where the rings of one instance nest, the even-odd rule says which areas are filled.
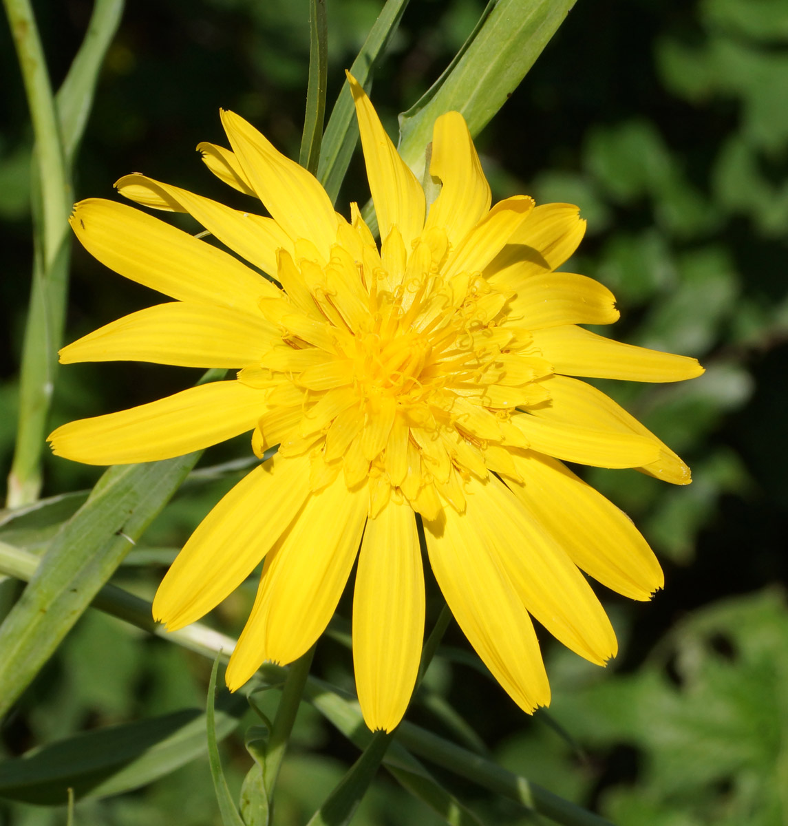
[[[575,0],[499,0],[444,74],[400,116],[399,152],[421,178],[439,115],[452,110],[478,135],[506,103]]]

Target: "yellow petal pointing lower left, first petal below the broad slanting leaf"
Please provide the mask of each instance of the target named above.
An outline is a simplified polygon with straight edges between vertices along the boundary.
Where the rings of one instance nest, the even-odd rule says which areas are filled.
[[[309,457],[275,456],[222,497],[159,585],[154,618],[183,628],[244,582],[301,510],[308,474]]]

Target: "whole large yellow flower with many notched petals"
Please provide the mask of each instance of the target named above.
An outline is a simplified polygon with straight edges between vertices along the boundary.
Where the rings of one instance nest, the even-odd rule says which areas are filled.
[[[272,217],[143,175],[121,194],[189,212],[215,245],[131,207],[74,207],[88,252],[175,299],[65,347],[63,363],[134,359],[240,369],[230,381],[72,422],[60,456],[150,462],[253,430],[278,453],[211,510],[178,555],[154,615],[178,629],[253,572],[263,576],[227,669],[235,690],[265,660],[292,662],[325,629],[358,555],[353,650],[371,729],[405,713],[424,634],[415,514],[458,624],[526,711],[549,701],[533,616],[603,664],[613,629],[581,571],[648,600],[662,572],[631,521],[559,461],[639,468],[686,484],[689,469],[643,425],[572,376],[672,382],[693,358],[619,344],[577,325],[619,313],[598,282],[556,273],[577,248],[577,207],[510,197],[487,180],[457,112],[434,126],[429,206],[351,78],[382,244],[305,169],[232,112],[232,150],[202,144],[211,172]],[[281,285],[281,287],[280,287]],[[360,545],[360,552],[359,552]]]

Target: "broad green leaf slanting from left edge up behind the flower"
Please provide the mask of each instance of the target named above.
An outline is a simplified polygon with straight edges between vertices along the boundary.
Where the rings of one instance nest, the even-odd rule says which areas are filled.
[[[36,676],[199,456],[110,468],[64,524],[0,625],[0,714]]]

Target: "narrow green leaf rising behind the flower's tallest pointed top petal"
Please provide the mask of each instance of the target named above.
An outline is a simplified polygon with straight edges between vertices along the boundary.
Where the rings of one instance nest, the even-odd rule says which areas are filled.
[[[408,0],[387,0],[375,25],[369,31],[367,40],[350,67],[350,74],[361,83],[367,93],[372,88],[373,71],[386,49],[389,40],[407,7]],[[353,96],[345,81],[325,127],[323,143],[320,147],[320,164],[317,177],[328,192],[331,202],[336,201],[339,187],[348,171],[348,164],[358,141],[358,124],[355,118]]]

